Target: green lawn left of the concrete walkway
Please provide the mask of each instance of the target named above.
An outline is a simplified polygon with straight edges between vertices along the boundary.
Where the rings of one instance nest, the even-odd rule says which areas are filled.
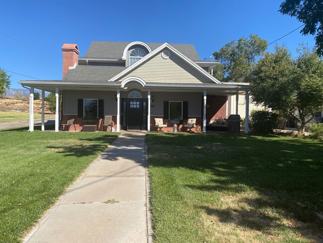
[[[118,135],[0,130],[0,242],[19,242]]]

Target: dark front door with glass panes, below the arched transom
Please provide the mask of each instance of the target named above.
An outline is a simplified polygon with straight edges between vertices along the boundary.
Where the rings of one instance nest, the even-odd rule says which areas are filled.
[[[147,129],[147,100],[146,99],[123,99],[122,101],[122,129]]]

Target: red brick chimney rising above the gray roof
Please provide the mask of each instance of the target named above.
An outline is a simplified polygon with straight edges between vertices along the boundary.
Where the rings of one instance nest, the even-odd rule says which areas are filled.
[[[62,46],[63,51],[63,78],[69,67],[73,67],[75,64],[79,64],[79,47],[77,44],[64,44]]]

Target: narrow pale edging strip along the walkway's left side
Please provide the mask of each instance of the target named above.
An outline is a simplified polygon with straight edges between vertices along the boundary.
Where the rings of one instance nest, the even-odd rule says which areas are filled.
[[[117,140],[117,138],[115,139]],[[27,243],[29,239],[35,234],[35,232],[46,222],[46,220],[55,212],[58,206],[61,205],[61,202],[73,191],[73,189],[81,182],[81,180],[86,176],[88,172],[93,168],[93,166],[97,163],[97,161],[103,156],[103,154],[109,150],[110,146],[115,142],[115,140],[109,144],[109,146],[104,149],[99,156],[94,159],[83,172],[65,188],[65,191],[59,197],[59,199],[53,203],[48,210],[46,210],[40,219],[33,225],[29,230],[27,230],[20,239],[22,243]]]

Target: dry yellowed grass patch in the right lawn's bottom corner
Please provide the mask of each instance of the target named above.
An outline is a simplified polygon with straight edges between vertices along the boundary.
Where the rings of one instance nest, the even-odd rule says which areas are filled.
[[[293,214],[262,207],[257,193],[223,196],[222,202],[202,207],[201,218],[209,239],[206,242],[322,242],[312,225],[300,222]]]

